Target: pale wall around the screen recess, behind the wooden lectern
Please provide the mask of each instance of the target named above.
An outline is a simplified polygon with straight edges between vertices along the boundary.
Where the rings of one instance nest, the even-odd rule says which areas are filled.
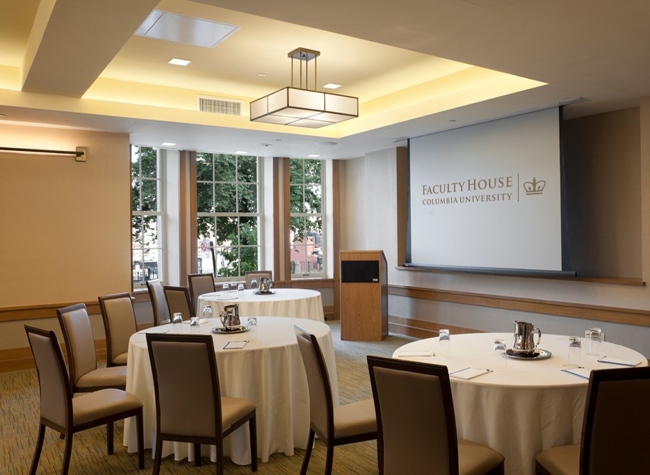
[[[640,207],[641,276],[650,275],[650,98],[640,104]],[[638,142],[637,142],[638,143]],[[346,161],[341,178],[341,249],[383,250],[388,261],[389,285],[449,291],[484,293],[576,304],[603,305],[626,309],[650,309],[650,289],[608,283],[546,280],[497,275],[434,273],[398,269],[398,150],[384,150]],[[532,321],[542,332],[580,335],[586,328],[600,326],[608,341],[631,346],[650,355],[650,328],[530,314],[476,305],[435,300],[389,297],[389,314],[412,319],[457,325],[476,330],[510,332],[515,319]],[[643,317],[642,317],[643,318]]]

